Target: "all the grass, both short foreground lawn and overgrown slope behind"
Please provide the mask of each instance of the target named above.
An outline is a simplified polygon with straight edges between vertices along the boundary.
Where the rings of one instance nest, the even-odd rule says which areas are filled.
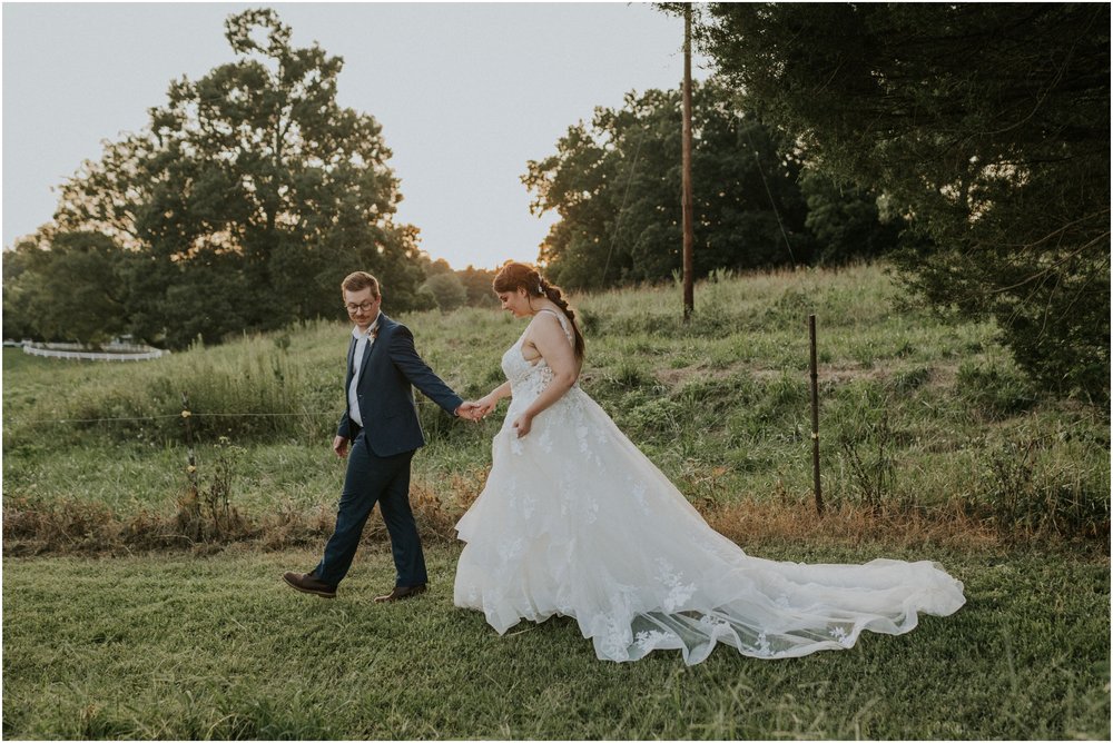
[[[341,597],[298,595],[278,576],[316,562],[343,478],[343,324],[126,366],[6,348],[4,736],[1107,739],[1107,410],[1037,394],[992,325],[902,307],[883,267],[717,276],[696,296],[688,326],[677,287],[574,298],[584,389],[750,554],[937,559],[966,583],[956,615],[695,668],[601,663],[570,620],[499,637],[451,581],[501,422],[426,402],[412,498],[433,591],[373,604],[393,576],[373,517]],[[480,309],[401,319],[465,397],[501,383],[522,330]]]

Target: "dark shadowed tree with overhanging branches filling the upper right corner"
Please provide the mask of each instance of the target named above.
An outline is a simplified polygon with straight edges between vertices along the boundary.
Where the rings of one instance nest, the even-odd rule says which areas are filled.
[[[1109,399],[1107,3],[716,3],[720,71],[802,157],[883,191],[935,307]]]

